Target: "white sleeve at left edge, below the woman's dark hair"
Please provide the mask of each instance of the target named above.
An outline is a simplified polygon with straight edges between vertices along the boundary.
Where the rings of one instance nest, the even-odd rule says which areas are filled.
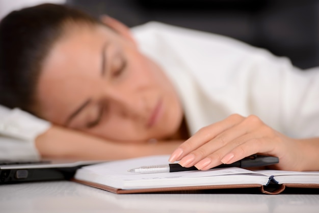
[[[51,124],[20,109],[10,110],[0,105],[0,158],[38,159],[37,136]]]

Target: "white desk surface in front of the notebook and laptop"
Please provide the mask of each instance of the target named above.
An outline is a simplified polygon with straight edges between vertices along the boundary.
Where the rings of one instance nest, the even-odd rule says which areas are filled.
[[[319,212],[318,194],[117,195],[71,181],[0,185],[0,212]]]

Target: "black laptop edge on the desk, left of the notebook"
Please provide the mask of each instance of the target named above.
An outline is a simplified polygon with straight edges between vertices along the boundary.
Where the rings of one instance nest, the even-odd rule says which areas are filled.
[[[5,161],[0,160],[0,184],[67,180],[83,166],[101,163],[102,161]]]

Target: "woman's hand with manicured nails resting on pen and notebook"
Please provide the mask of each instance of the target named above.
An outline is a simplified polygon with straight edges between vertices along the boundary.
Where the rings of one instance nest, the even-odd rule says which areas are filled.
[[[235,114],[200,129],[172,153],[169,161],[179,161],[183,167],[195,165],[200,170],[207,170],[262,153],[279,157],[279,164],[269,168],[298,171],[308,169],[303,162],[307,153],[303,152],[302,142],[280,134],[254,115],[243,117]],[[315,142],[311,141],[318,153],[318,140]]]

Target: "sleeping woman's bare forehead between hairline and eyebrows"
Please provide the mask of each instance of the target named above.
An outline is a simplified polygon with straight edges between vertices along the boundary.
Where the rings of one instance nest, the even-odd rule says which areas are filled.
[[[73,26],[51,48],[42,65],[37,85],[37,111],[61,123],[73,109],[94,94],[105,43],[116,42],[115,33],[104,26]]]

